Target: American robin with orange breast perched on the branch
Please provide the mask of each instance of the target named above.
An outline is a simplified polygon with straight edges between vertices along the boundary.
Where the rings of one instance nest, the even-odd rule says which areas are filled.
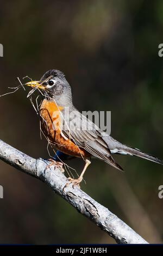
[[[123,169],[115,162],[112,154],[139,156],[163,164],[156,157],[116,141],[80,113],[73,106],[70,84],[61,71],[49,70],[40,81],[31,81],[26,85],[34,90],[37,88],[43,97],[39,109],[41,129],[49,143],[64,154],[82,157],[85,161],[79,178],[69,179],[73,185],[83,180],[91,157],[103,160],[119,170]]]

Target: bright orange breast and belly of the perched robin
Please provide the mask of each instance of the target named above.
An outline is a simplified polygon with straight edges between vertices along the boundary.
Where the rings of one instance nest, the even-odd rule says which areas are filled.
[[[55,148],[65,154],[76,157],[90,157],[82,148],[66,138],[61,132],[61,111],[64,107],[57,106],[54,101],[43,100],[40,107],[41,129]]]

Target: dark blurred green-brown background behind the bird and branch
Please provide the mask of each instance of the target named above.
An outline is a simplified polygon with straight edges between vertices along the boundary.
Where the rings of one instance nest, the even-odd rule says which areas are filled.
[[[163,159],[163,2],[143,0],[3,1],[0,10],[0,94],[16,77],[38,80],[65,72],[80,111],[111,111],[111,136]],[[33,157],[48,158],[39,119],[18,90],[0,98],[0,139]],[[82,189],[148,242],[163,241],[163,168],[115,156],[118,172],[93,160]],[[68,162],[78,173],[82,160]],[[75,175],[75,174],[74,174]],[[0,243],[115,243],[52,190],[0,163]]]

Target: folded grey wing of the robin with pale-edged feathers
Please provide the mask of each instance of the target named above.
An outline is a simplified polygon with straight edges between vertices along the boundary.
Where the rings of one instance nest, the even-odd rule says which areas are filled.
[[[103,135],[106,135],[106,133],[102,132],[98,126],[80,112],[75,111],[73,117],[67,121],[66,117],[64,118],[62,132],[79,148],[84,148],[92,156],[109,163],[119,170],[123,170],[112,158],[108,144],[103,139]]]

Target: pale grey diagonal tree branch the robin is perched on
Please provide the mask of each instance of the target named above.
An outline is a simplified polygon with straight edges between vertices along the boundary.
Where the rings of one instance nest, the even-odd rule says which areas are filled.
[[[64,188],[67,179],[57,166],[55,168],[51,166],[45,171],[47,167],[45,161],[33,159],[1,140],[0,160],[45,182],[48,186],[52,187],[55,193],[74,206],[80,214],[89,218],[113,237],[117,243],[147,243],[126,223],[121,221],[120,218],[112,214],[103,205],[97,203],[78,187],[73,188],[70,184]]]

